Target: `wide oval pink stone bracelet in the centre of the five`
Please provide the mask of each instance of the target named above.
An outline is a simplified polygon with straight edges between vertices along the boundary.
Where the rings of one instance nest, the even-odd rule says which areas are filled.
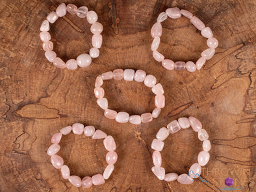
[[[114,110],[108,109],[109,103],[106,98],[104,98],[105,91],[101,86],[103,85],[103,80],[109,80],[114,78],[115,80],[127,80],[136,82],[144,82],[144,84],[152,88],[151,90],[155,93],[155,108],[151,113],[146,113],[142,115],[129,115],[127,112],[116,112]],[[157,84],[157,78],[153,75],[146,75],[146,72],[138,69],[135,73],[133,69],[115,69],[114,71],[109,71],[103,73],[96,78],[94,94],[97,98],[97,104],[100,108],[105,110],[104,115],[109,119],[116,119],[119,123],[127,123],[128,121],[134,125],[140,125],[140,123],[148,123],[157,118],[160,114],[161,108],[165,106],[164,90],[160,83]]]

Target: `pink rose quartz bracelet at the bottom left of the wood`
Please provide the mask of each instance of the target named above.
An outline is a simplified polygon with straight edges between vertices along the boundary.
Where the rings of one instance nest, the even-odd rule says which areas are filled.
[[[102,174],[95,174],[94,176],[85,176],[83,180],[79,176],[71,175],[70,176],[70,169],[67,165],[64,165],[63,159],[57,155],[57,152],[60,150],[60,139],[63,135],[70,134],[70,132],[74,134],[81,135],[84,133],[85,136],[92,136],[92,139],[104,139],[103,143],[105,148],[109,151],[106,155],[106,161],[109,165],[105,168],[105,171]],[[60,169],[62,177],[64,179],[68,179],[71,184],[75,187],[89,188],[94,186],[99,186],[101,184],[105,184],[105,180],[110,177],[110,174],[114,171],[114,163],[118,160],[118,154],[114,150],[116,150],[116,143],[112,136],[107,136],[105,132],[101,130],[95,130],[94,126],[85,126],[81,123],[75,123],[72,126],[66,126],[60,130],[57,134],[54,134],[51,138],[51,145],[47,150],[47,154],[51,156],[51,163],[53,167],[56,169]]]

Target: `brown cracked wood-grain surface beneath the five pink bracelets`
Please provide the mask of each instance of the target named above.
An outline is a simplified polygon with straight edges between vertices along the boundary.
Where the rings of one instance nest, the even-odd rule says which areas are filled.
[[[205,192],[220,191],[228,176],[235,187],[242,183],[240,191],[256,191],[255,1],[65,1],[95,10],[104,26],[99,58],[75,71],[49,64],[39,38],[42,21],[61,2],[0,2],[0,191]],[[151,26],[171,6],[190,10],[219,41],[216,55],[200,71],[167,71],[151,56]],[[76,16],[58,19],[50,33],[64,60],[91,47],[89,25]],[[196,62],[207,48],[186,18],[166,20],[161,39],[160,52],[173,60]],[[159,118],[135,126],[103,116],[94,82],[116,68],[144,69],[157,77],[166,97]],[[130,115],[154,108],[153,93],[144,84],[110,80],[104,88],[110,108]],[[210,135],[211,160],[202,173],[209,184],[159,181],[151,172],[151,141],[159,128],[189,115]],[[116,140],[118,162],[103,186],[73,187],[50,163],[51,136],[73,123],[94,125]],[[103,173],[102,141],[70,134],[60,146],[71,174]],[[166,139],[162,165],[167,172],[187,173],[200,150],[196,134],[182,130]]]

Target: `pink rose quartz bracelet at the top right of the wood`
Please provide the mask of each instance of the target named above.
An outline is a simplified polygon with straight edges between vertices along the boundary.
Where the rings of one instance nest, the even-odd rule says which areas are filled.
[[[170,59],[164,59],[164,56],[160,54],[157,49],[160,44],[160,36],[162,36],[162,21],[165,21],[168,17],[172,19],[180,18],[181,15],[190,19],[190,22],[198,29],[201,30],[201,35],[207,38],[207,45],[209,49],[205,49],[201,53],[201,57],[198,59],[196,64],[194,62],[173,62]],[[218,40],[212,37],[212,30],[209,27],[205,27],[203,22],[193,16],[193,14],[187,10],[179,10],[177,7],[168,8],[165,12],[161,12],[159,17],[157,18],[157,23],[155,23],[151,29],[151,36],[154,38],[153,43],[151,45],[151,50],[153,51],[153,57],[157,62],[162,62],[162,66],[164,66],[168,70],[176,69],[176,70],[185,70],[187,69],[190,72],[196,71],[196,69],[201,69],[203,64],[205,64],[206,60],[212,58],[215,53],[215,48],[218,47]]]

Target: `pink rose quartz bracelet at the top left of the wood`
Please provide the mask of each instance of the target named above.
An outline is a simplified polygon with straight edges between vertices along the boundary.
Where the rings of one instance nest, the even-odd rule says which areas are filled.
[[[70,59],[65,62],[57,57],[57,54],[52,51],[53,50],[53,42],[51,42],[51,35],[49,34],[49,23],[55,23],[58,17],[63,17],[66,15],[66,12],[70,14],[77,14],[79,18],[87,18],[88,23],[92,24],[90,30],[93,34],[92,36],[92,48],[90,49],[90,55],[87,53],[80,54],[77,56],[77,59]],[[56,11],[50,12],[49,15],[42,23],[40,27],[40,38],[43,43],[43,49],[45,51],[45,57],[49,62],[53,62],[53,65],[58,68],[65,68],[68,69],[77,69],[79,67],[87,67],[92,63],[92,58],[97,58],[99,56],[99,48],[102,44],[102,36],[101,32],[103,31],[103,25],[97,22],[97,14],[93,10],[88,11],[86,6],[81,6],[77,8],[77,6],[73,4],[68,4],[67,6],[65,3],[60,4]]]

